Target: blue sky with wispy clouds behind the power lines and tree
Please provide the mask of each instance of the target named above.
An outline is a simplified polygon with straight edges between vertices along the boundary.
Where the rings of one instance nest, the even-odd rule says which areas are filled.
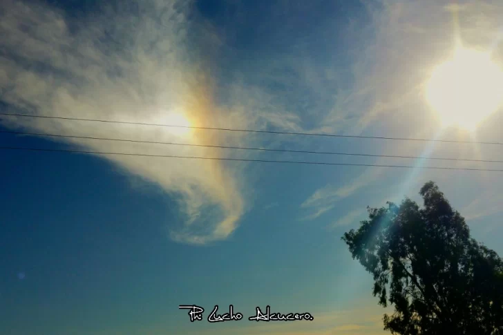
[[[503,61],[500,1],[4,0],[0,112],[149,124],[503,142],[442,128],[424,97],[458,41]],[[502,63],[503,64],[503,63]],[[188,123],[187,123],[188,122]],[[0,116],[0,131],[503,160],[499,146]],[[0,146],[297,160],[273,164],[0,151],[0,333],[385,334],[341,236],[437,182],[503,254],[501,164],[216,149],[0,133]],[[191,323],[179,305],[309,312]],[[207,315],[207,314],[206,314]]]

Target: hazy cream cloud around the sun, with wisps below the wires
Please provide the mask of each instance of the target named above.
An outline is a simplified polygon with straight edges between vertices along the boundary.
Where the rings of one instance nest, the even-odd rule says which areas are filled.
[[[454,8],[451,1],[368,1],[366,23],[345,31],[348,55],[352,55],[348,86],[336,90],[337,99],[324,115],[321,128],[340,129],[351,135],[386,134],[390,137],[439,138],[473,140],[466,133],[452,130],[439,133],[437,116],[426,103],[424,84],[437,64],[451,56],[461,39],[468,48],[491,50],[493,60],[503,64],[502,25],[498,17],[503,4],[497,1],[466,3]],[[363,19],[362,19],[363,21]],[[361,23],[357,20],[355,22]],[[347,74],[348,74],[347,73]],[[502,111],[489,117],[480,126],[475,140],[497,141],[497,124]],[[417,155],[429,157],[459,157],[493,159],[497,148],[462,144],[430,144],[428,142],[367,141],[355,146],[360,153],[385,155]],[[403,159],[369,158],[368,164],[409,166],[456,166],[493,169],[492,164],[442,162]],[[416,186],[427,180],[437,180],[451,189],[481,180],[482,173],[457,171],[427,171],[420,169],[369,168],[348,180],[347,184],[331,184],[315,191],[301,207],[312,217],[334,203],[361,191],[367,186],[384,189],[393,198],[417,194]],[[460,184],[459,175],[466,176]],[[467,186],[468,187],[468,186]],[[484,187],[497,192],[497,187]],[[461,191],[458,189],[457,192]],[[465,192],[466,193],[466,192]],[[485,193],[485,192],[484,192]],[[476,197],[473,193],[466,193]],[[383,195],[377,196],[382,200]],[[485,196],[484,196],[485,199]],[[487,198],[490,200],[489,198]],[[388,199],[386,199],[388,200]],[[481,204],[484,201],[481,200]],[[486,203],[493,204],[488,201]],[[487,213],[495,211],[488,206]],[[485,212],[485,210],[484,210]],[[477,213],[475,213],[477,214]]]

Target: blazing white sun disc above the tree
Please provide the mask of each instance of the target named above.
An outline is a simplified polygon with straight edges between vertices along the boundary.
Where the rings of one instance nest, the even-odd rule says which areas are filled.
[[[457,48],[453,59],[433,70],[426,99],[444,127],[475,131],[503,102],[503,71],[488,53]]]

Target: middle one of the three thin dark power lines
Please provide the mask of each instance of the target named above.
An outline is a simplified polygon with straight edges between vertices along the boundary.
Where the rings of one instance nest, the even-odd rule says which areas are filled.
[[[448,160],[457,162],[485,162],[485,163],[503,163],[503,160],[468,160],[462,158],[448,158],[448,157],[420,157],[420,156],[403,156],[403,155],[372,155],[367,153],[338,153],[330,151],[305,151],[305,150],[290,150],[290,149],[264,149],[264,148],[250,148],[244,146],[218,146],[210,144],[188,144],[176,142],[157,142],[157,141],[140,141],[140,140],[123,140],[108,137],[90,137],[90,136],[76,136],[76,135],[59,135],[59,134],[44,134],[44,133],[25,133],[21,131],[0,131],[0,133],[17,134],[17,135],[35,135],[35,136],[49,136],[49,137],[68,137],[80,138],[86,140],[106,140],[117,142],[133,142],[133,143],[148,143],[148,144],[169,144],[175,146],[197,146],[203,148],[217,148],[217,149],[242,149],[250,151],[269,151],[281,153],[313,153],[319,155],[345,155],[345,156],[363,156],[363,157],[386,157],[386,158],[408,158],[415,160]]]

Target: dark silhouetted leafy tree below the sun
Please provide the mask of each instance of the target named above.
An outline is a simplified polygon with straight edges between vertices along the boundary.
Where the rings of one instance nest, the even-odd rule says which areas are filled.
[[[368,207],[369,220],[343,236],[353,259],[374,276],[384,329],[403,335],[503,335],[503,261],[471,238],[464,218],[434,182],[422,208]],[[389,292],[389,293],[388,293]]]

